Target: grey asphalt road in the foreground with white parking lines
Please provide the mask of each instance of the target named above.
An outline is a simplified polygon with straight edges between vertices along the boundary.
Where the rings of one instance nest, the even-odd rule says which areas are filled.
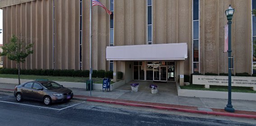
[[[0,126],[256,126],[247,119],[236,122],[79,100],[49,107],[35,101],[21,103],[11,94],[0,94]]]

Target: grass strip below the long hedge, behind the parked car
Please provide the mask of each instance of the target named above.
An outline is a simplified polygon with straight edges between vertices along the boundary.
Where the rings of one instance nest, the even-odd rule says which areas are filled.
[[[18,75],[16,74],[0,74],[0,77],[18,79]],[[86,80],[89,79],[89,77],[20,75],[20,79],[28,79],[28,80],[48,79],[50,81],[67,81],[67,82],[84,82],[85,83]],[[102,78],[92,78],[92,79],[93,79],[93,83],[102,84]]]

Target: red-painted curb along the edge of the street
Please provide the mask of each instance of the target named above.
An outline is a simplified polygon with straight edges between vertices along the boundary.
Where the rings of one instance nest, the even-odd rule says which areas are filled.
[[[256,118],[256,115],[235,114],[235,113],[225,113],[225,112],[207,112],[207,111],[192,110],[192,109],[185,109],[185,108],[172,108],[172,107],[154,106],[154,105],[137,104],[137,103],[125,103],[125,102],[116,102],[116,101],[108,101],[108,100],[99,100],[99,99],[83,99],[83,98],[75,98],[75,97],[73,97],[73,98],[78,99],[78,100],[88,101],[88,102],[98,102],[98,103],[108,103],[108,104],[133,106],[133,107],[153,108],[153,109],[161,109],[161,110],[177,111],[177,112],[190,112],[190,113],[218,115],[218,116],[226,116],[226,117]]]

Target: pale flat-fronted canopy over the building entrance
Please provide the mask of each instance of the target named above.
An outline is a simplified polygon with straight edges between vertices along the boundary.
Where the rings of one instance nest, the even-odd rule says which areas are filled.
[[[107,46],[107,60],[185,60],[186,43]]]

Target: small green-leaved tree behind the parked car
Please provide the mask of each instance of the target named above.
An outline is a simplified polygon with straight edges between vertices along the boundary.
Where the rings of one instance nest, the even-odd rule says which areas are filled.
[[[26,61],[26,58],[29,54],[33,54],[31,49],[33,44],[24,43],[21,39],[21,36],[18,38],[15,35],[12,35],[10,42],[0,46],[3,49],[3,52],[0,52],[0,56],[6,56],[9,60],[16,61],[18,70],[19,70],[19,85],[20,85],[20,64]]]

